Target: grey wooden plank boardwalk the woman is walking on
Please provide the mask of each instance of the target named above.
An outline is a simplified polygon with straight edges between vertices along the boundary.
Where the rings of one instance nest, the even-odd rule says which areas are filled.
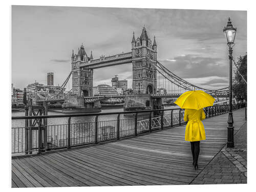
[[[234,132],[245,123],[233,112]],[[12,159],[12,187],[189,184],[225,145],[227,115],[205,119],[199,169],[194,170],[185,125],[133,138]]]

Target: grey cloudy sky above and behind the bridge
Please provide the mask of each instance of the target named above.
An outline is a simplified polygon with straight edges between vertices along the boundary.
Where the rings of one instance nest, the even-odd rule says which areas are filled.
[[[233,56],[247,51],[246,11],[12,6],[12,83],[62,84],[71,71],[72,49],[115,55],[131,51],[133,31],[145,25],[156,36],[158,61],[185,80],[208,89],[228,86],[228,47],[223,28],[237,27]],[[94,70],[94,86],[119,75],[132,86],[132,65]],[[72,86],[71,82],[69,84]]]

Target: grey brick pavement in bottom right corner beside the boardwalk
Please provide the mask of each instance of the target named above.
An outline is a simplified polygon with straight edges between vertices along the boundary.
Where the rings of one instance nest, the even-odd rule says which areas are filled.
[[[225,145],[190,184],[247,183],[247,123],[234,135],[234,143],[231,149]]]

